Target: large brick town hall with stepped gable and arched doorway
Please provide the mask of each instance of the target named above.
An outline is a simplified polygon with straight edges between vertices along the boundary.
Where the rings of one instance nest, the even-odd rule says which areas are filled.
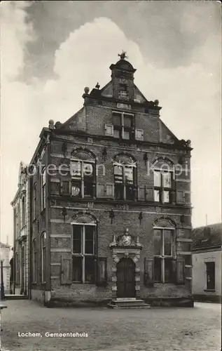
[[[32,299],[193,305],[190,141],[160,120],[124,53],[110,69],[81,110],[43,128],[30,163]]]

